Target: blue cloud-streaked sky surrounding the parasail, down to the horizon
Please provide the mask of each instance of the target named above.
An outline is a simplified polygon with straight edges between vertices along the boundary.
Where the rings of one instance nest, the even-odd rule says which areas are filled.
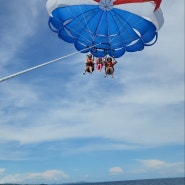
[[[72,54],[44,0],[0,0],[0,78]],[[155,45],[83,75],[85,55],[0,83],[0,184],[184,176],[184,1]]]

